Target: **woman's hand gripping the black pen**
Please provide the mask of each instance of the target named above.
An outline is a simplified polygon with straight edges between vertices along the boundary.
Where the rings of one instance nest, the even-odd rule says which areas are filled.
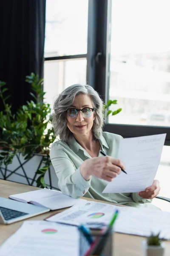
[[[121,160],[105,156],[93,157],[85,160],[80,166],[80,172],[85,180],[90,180],[91,175],[102,180],[112,181],[125,169]]]

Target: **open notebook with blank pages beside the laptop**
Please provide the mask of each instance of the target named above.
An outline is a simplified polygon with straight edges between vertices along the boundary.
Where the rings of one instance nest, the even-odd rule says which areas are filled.
[[[68,195],[62,194],[62,192],[50,189],[39,189],[21,194],[10,195],[9,198],[23,203],[30,203],[46,207],[51,210],[71,207],[85,201],[84,199],[80,198],[71,198]]]

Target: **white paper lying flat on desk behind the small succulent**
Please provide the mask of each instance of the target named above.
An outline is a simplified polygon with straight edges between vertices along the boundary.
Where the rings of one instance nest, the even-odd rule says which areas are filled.
[[[119,209],[114,231],[138,236],[150,236],[152,232],[160,232],[161,238],[170,239],[170,212],[122,207]]]

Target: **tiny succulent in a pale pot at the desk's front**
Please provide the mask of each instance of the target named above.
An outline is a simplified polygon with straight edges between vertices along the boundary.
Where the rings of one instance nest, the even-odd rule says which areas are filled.
[[[160,232],[156,235],[153,233],[142,241],[143,256],[163,256],[164,242],[159,237]]]

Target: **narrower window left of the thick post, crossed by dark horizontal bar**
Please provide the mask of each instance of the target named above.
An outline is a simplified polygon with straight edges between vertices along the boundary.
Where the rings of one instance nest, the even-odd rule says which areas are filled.
[[[44,91],[55,96],[71,84],[86,83],[88,0],[47,0]]]

